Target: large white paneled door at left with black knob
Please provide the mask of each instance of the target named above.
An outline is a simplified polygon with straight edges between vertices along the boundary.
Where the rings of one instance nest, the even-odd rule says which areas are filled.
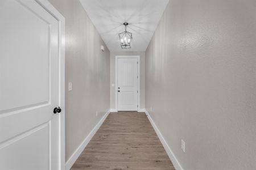
[[[60,168],[59,22],[32,0],[0,1],[0,169]]]

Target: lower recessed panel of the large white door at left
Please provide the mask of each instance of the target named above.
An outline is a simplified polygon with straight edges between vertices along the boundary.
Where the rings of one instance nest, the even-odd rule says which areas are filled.
[[[49,124],[44,124],[3,143],[0,158],[4,158],[5,162],[1,161],[1,169],[49,169],[48,141]],[[31,160],[31,156],[35,155]]]

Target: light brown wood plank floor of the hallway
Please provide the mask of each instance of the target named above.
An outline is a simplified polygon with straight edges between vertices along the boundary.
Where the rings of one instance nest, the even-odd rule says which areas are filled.
[[[110,113],[72,170],[175,170],[145,113]]]

